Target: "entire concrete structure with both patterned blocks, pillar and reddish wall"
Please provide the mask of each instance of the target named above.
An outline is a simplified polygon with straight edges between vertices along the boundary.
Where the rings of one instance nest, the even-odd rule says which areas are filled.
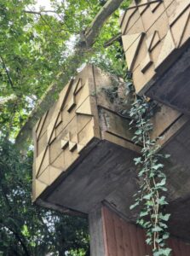
[[[171,155],[164,166],[174,256],[190,255],[189,12],[189,0],[142,0],[120,20],[135,90],[156,100],[151,136],[164,136],[158,143]],[[88,65],[34,127],[33,201],[89,218],[92,256],[151,255],[130,211],[141,151],[121,114],[130,100],[124,83]]]

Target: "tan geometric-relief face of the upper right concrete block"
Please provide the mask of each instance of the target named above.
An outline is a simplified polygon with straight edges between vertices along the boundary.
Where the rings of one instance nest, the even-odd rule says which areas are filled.
[[[176,49],[188,44],[190,1],[142,0],[139,5],[133,1],[120,25],[128,68],[137,93],[143,94],[157,73],[164,73],[164,68],[175,61]]]

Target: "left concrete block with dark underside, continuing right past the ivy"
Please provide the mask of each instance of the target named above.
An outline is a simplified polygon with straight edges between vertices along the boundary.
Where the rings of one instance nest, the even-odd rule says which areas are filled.
[[[137,210],[130,211],[138,189],[133,159],[141,145],[132,143],[129,116],[119,112],[120,98],[107,97],[111,77],[92,67],[78,76],[35,128],[34,181],[40,185],[38,190],[34,186],[34,197],[43,207],[89,214],[92,221],[97,217],[92,211],[104,202],[135,222]],[[184,205],[190,198],[189,117],[160,103],[156,109],[152,137],[164,136],[158,143],[171,155],[165,161],[170,231],[190,241],[190,206]]]

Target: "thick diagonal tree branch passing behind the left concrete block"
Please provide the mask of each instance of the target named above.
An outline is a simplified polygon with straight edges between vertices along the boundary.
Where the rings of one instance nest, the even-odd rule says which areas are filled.
[[[60,86],[58,83],[53,83],[49,86],[49,89],[45,92],[42,99],[37,103],[36,108],[34,108],[27,119],[26,124],[21,128],[20,133],[16,137],[17,148],[24,149],[28,146],[28,143],[31,142],[33,126],[36,124],[37,120],[42,117],[43,113],[53,105],[55,95],[62,90],[63,84],[66,84],[76,73],[77,68],[83,63],[84,57],[90,54],[89,49],[91,49],[95,43],[95,38],[98,36],[101,27],[112,13],[118,9],[122,2],[123,0],[108,0],[99,13],[95,15],[95,19],[92,20],[91,25],[85,30],[83,35],[81,35],[75,52],[72,57],[70,57],[69,64],[66,65],[66,69],[56,78],[56,80],[60,81]],[[91,54],[92,53],[93,51],[91,51]]]

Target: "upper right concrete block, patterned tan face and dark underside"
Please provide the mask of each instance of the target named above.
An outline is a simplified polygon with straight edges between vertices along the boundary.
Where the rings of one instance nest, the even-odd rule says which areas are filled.
[[[190,2],[150,2],[133,2],[120,20],[136,92],[189,114]]]

